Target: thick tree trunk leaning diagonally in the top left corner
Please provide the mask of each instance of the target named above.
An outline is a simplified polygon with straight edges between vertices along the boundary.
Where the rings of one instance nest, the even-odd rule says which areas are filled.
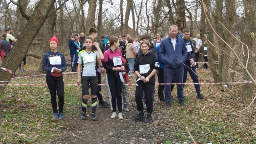
[[[1,67],[8,68],[14,72],[17,70],[26,52],[28,51],[29,46],[47,19],[54,2],[55,0],[40,0],[36,4],[33,14],[22,31],[22,33],[25,33],[26,35],[20,36],[12,51],[7,55],[4,62],[1,64]],[[0,81],[10,81],[11,78],[12,74],[0,69]],[[0,86],[0,95],[4,92],[4,89],[4,86]]]

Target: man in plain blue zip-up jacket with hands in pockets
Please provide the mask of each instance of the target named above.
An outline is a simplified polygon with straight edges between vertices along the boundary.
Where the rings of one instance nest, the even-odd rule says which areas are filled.
[[[177,83],[183,83],[184,68],[183,63],[186,62],[188,50],[182,38],[177,37],[178,26],[171,25],[169,28],[169,37],[165,38],[160,44],[159,58],[164,62],[164,83],[172,83],[175,76]],[[166,108],[171,106],[171,85],[164,85],[164,101]],[[182,107],[187,105],[184,103],[183,85],[177,85],[177,96],[179,104]]]

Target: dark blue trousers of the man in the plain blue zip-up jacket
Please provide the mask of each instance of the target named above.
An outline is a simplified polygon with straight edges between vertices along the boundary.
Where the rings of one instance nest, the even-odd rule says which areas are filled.
[[[164,67],[164,83],[172,83],[175,76],[177,83],[183,83],[184,68],[167,68]],[[171,85],[164,85],[164,101],[171,102]],[[177,97],[179,101],[183,101],[183,85],[177,84]]]

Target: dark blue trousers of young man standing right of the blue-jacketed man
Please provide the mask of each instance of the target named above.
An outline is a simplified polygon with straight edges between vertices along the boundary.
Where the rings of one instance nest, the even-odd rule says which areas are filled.
[[[186,83],[186,81],[187,81],[187,74],[188,73],[189,73],[191,79],[193,80],[193,83],[199,83],[198,82],[198,76],[196,75],[196,68],[192,67],[191,68],[192,70],[191,70],[191,69],[189,69],[190,66],[191,66],[190,62],[186,62],[185,64],[188,67],[186,67],[185,65],[183,66],[184,67],[183,83]],[[185,85],[183,85],[183,87],[184,86]],[[199,84],[194,84],[194,86],[195,86],[197,95],[200,95],[200,85]]]

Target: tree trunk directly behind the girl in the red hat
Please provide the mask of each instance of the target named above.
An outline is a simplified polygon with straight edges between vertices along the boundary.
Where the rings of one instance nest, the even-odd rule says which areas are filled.
[[[55,7],[54,5],[52,5],[52,10],[51,11],[54,11],[55,10]],[[56,19],[57,19],[57,14],[54,13],[52,14],[47,20],[46,20],[46,31],[47,33],[43,33],[43,52],[42,52],[42,57],[44,55],[45,52],[49,51],[50,50],[50,47],[49,47],[49,39],[53,36],[54,34],[54,27],[56,25]],[[40,62],[40,66],[42,65],[42,61],[43,59],[41,60]],[[38,71],[40,72],[44,72],[42,70],[42,67],[38,67]]]

